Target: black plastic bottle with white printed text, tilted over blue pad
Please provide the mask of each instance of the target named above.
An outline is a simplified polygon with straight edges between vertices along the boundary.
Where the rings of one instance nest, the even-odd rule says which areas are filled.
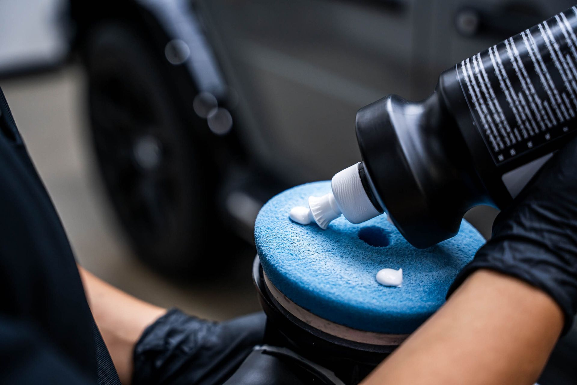
[[[445,70],[421,102],[389,95],[359,110],[372,215],[386,211],[426,248],[455,236],[471,207],[506,207],[577,132],[576,29],[573,7]],[[340,211],[354,216],[335,178]]]

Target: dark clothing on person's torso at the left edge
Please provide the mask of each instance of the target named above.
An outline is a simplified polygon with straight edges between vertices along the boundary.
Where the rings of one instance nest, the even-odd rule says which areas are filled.
[[[0,113],[0,382],[119,384],[1,89]]]

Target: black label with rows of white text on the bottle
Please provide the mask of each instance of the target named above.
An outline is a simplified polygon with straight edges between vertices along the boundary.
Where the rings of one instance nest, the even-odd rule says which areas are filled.
[[[456,65],[496,164],[577,128],[577,8]]]

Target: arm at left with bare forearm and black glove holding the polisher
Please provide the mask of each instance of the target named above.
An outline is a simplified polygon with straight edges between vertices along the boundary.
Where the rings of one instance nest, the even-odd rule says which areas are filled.
[[[222,383],[263,343],[263,313],[210,322],[148,304],[78,270],[123,385]]]

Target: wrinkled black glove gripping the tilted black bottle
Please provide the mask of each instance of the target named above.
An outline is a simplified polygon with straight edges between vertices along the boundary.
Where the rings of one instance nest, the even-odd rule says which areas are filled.
[[[491,240],[447,297],[479,268],[539,287],[561,306],[564,333],[577,311],[577,139],[555,154],[493,224]]]

